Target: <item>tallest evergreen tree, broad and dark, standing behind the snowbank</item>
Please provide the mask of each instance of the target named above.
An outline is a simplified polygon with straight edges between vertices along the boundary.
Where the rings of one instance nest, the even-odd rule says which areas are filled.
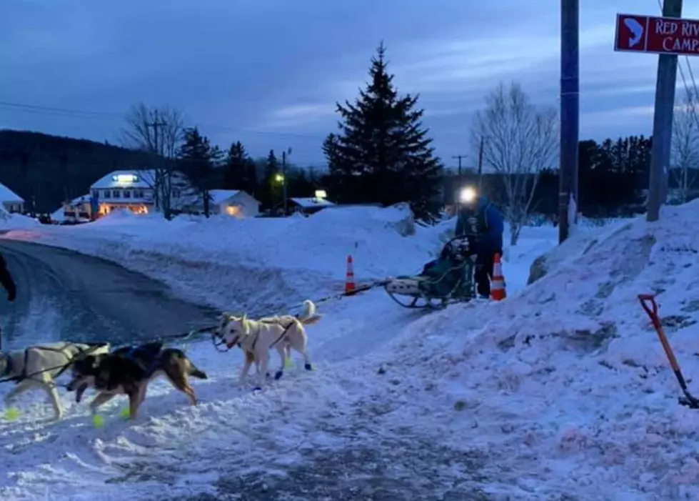
[[[323,143],[332,196],[341,202],[410,202],[417,217],[441,206],[442,165],[423,127],[418,96],[398,96],[386,49],[371,59],[370,81],[351,104],[337,104],[340,132]]]

